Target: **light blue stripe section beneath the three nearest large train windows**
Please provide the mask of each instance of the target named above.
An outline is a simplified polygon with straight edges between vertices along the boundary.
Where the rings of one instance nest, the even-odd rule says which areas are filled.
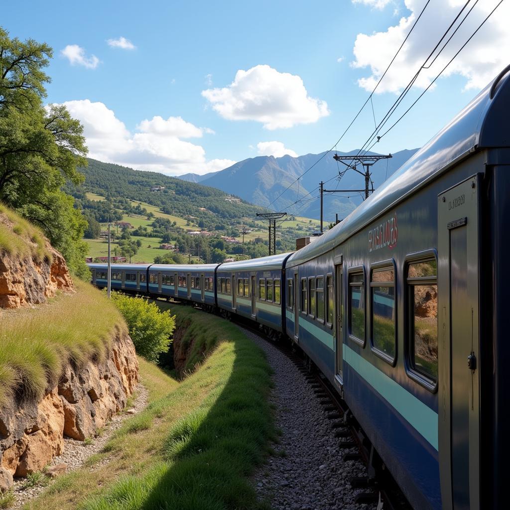
[[[436,450],[438,449],[438,414],[409,393],[398,382],[374,367],[348,345],[343,344],[343,359]]]

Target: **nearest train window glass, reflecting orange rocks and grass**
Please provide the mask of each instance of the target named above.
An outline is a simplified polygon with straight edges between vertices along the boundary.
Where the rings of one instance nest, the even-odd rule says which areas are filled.
[[[438,380],[438,265],[435,259],[407,266],[412,368]]]

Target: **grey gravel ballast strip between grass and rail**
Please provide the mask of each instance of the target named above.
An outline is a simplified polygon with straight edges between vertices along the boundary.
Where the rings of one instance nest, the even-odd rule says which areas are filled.
[[[274,374],[270,402],[275,408],[276,427],[282,435],[273,444],[275,455],[253,477],[261,501],[273,510],[376,510],[377,504],[356,504],[363,489],[353,489],[352,477],[366,476],[359,461],[343,462],[344,441],[334,436],[327,418],[305,376],[270,342],[242,328],[246,336],[266,353]]]

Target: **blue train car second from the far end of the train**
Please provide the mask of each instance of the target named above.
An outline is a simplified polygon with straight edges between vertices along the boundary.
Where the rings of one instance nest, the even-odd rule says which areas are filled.
[[[214,307],[217,267],[218,264],[152,264],[147,271],[148,292]]]

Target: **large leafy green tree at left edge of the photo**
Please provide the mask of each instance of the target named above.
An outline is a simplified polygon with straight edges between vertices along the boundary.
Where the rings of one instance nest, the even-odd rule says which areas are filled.
[[[0,201],[44,230],[75,273],[85,274],[87,221],[62,186],[80,184],[83,126],[62,105],[44,106],[52,48],[0,27]]]

